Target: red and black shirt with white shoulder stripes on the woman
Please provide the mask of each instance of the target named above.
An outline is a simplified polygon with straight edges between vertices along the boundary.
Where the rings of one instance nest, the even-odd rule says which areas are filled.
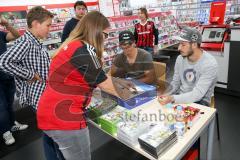
[[[63,47],[51,62],[47,86],[39,100],[38,127],[85,128],[84,108],[94,87],[106,78],[92,46],[76,40]]]

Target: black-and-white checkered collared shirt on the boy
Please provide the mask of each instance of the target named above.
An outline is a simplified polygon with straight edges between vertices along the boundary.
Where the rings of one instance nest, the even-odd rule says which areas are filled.
[[[21,36],[15,44],[0,56],[0,69],[13,75],[20,92],[20,103],[36,109],[48,75],[50,57],[39,40],[30,31]],[[35,74],[42,82],[29,83]]]

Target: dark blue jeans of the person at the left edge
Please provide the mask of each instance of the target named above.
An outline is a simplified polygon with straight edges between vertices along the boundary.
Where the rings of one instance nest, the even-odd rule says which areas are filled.
[[[10,131],[14,125],[13,101],[15,94],[14,79],[0,80],[0,133]]]

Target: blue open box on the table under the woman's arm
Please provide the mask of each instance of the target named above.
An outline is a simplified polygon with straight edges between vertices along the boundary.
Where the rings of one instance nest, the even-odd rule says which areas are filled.
[[[128,99],[121,99],[120,97],[109,95],[107,93],[103,93],[102,95],[111,97],[118,103],[118,105],[126,109],[133,109],[156,98],[157,90],[155,86],[145,84],[137,80],[131,81],[136,85],[137,88],[141,89],[141,92],[137,93],[133,97],[130,97]]]

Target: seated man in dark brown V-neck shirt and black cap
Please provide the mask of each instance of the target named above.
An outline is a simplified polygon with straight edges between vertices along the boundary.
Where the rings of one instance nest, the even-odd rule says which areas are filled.
[[[111,75],[120,78],[133,78],[151,84],[155,80],[152,56],[143,49],[136,48],[134,35],[130,31],[119,34],[119,45],[123,54],[114,59]]]

